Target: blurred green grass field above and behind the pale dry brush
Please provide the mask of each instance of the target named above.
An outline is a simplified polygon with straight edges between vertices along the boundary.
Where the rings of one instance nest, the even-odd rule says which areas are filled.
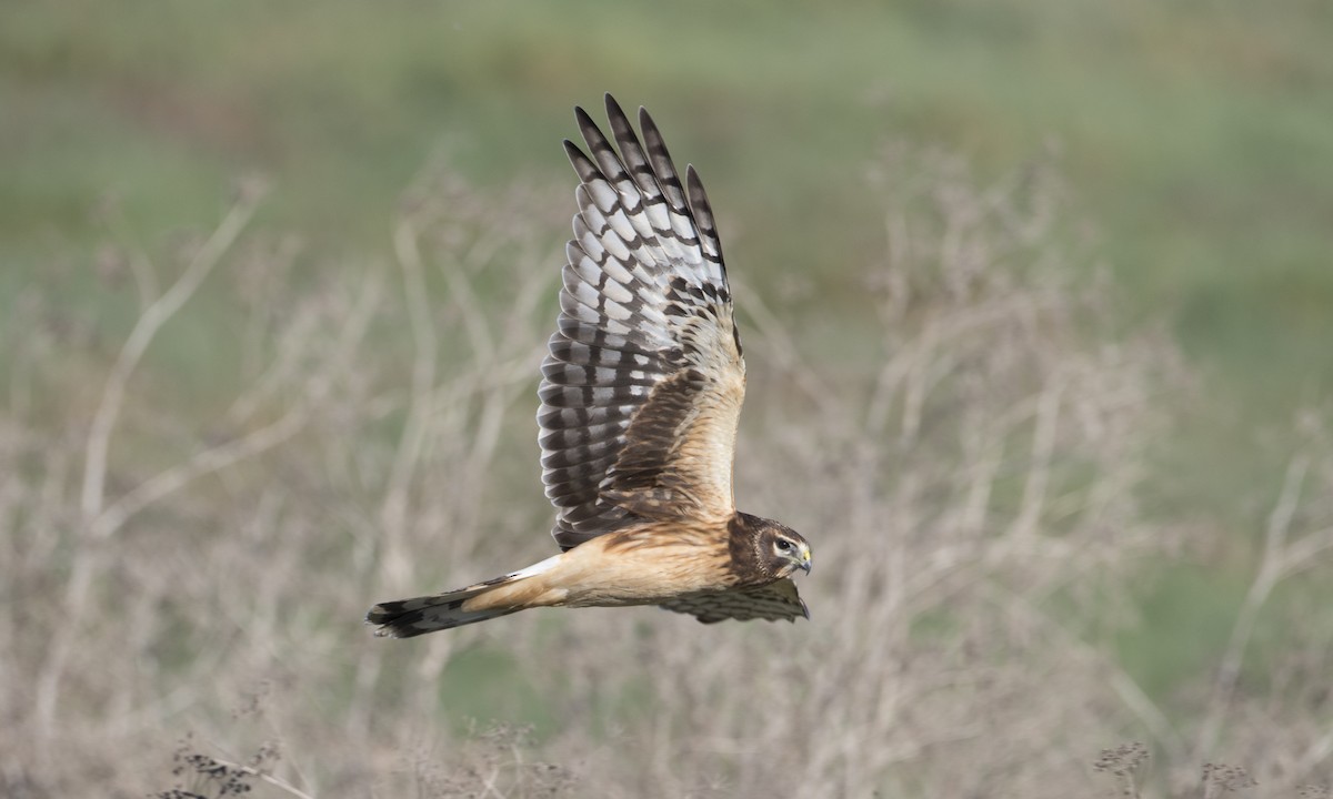
[[[748,289],[813,290],[784,305],[804,354],[854,369],[873,324],[861,276],[886,250],[869,177],[884,148],[960,153],[982,180],[1054,153],[1069,236],[1113,276],[1118,324],[1165,321],[1201,381],[1160,400],[1176,426],[1146,498],[1229,538],[1145,574],[1142,623],[1121,637],[1169,703],[1225,645],[1293,415],[1326,411],[1333,389],[1329,41],[1321,0],[5,4],[0,314],[36,285],[128,329],[131,292],[96,278],[108,226],[167,248],[248,173],[273,188],[257,228],[303,240],[301,278],[357,269],[384,257],[432,161],[483,190],[572,186],[571,107],[609,91],[700,168]],[[553,256],[572,189],[560,197]],[[209,302],[148,361],[200,419],[239,357]],[[57,418],[79,402],[36,405]]]

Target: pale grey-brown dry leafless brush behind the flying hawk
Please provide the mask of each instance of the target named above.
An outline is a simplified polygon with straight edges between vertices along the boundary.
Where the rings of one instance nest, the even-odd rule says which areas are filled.
[[[978,190],[920,161],[884,162],[908,188],[885,190],[866,266],[877,336],[808,352],[762,270],[733,268],[740,505],[816,549],[794,626],[363,627],[375,601],[552,549],[532,414],[565,222],[535,192],[429,181],[392,258],[312,281],[299,248],[244,232],[247,189],[179,264],[124,236],[105,253],[107,290],[137,293],[129,330],[35,290],[4,322],[0,794],[1317,795],[1328,614],[1265,684],[1240,675],[1273,590],[1333,545],[1318,431],[1256,497],[1274,507],[1232,646],[1169,718],[1106,641],[1136,570],[1197,535],[1136,503],[1188,380],[1164,337],[1110,333],[1044,168]],[[235,377],[188,400],[144,357],[205,292],[235,310]],[[469,731],[440,683],[479,650],[512,657],[551,723]]]

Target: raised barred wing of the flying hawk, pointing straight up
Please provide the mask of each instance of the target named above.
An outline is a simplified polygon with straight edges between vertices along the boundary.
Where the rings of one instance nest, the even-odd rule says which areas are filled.
[[[643,145],[611,95],[607,115],[619,153],[581,108],[591,157],[565,141],[579,213],[541,366],[543,482],[564,549],[635,519],[734,511],[745,362],[713,213],[648,112]]]

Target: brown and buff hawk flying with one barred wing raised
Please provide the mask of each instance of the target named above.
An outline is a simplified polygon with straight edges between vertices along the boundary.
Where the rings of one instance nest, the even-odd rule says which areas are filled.
[[[805,539],[736,510],[745,397],[713,210],[648,112],[643,141],[607,95],[615,145],[575,109],[579,174],[557,330],[541,365],[541,479],[561,554],[456,591],[383,602],[376,635],[411,638],[529,607],[657,605],[704,623],[809,618],[790,577]]]

